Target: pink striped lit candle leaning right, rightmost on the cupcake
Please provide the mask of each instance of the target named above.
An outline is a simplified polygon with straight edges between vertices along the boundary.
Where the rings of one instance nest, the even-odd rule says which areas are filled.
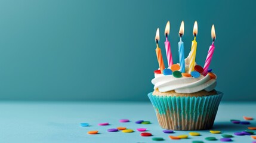
[[[206,76],[206,74],[208,72],[208,69],[209,69],[209,66],[210,66],[210,63],[211,63],[211,60],[212,60],[212,55],[213,55],[214,49],[215,49],[214,41],[216,39],[216,35],[215,35],[214,25],[212,25],[211,35],[212,35],[212,45],[209,47],[208,55],[207,55],[206,60],[205,60],[205,66],[203,66],[203,73],[202,74],[204,76]]]

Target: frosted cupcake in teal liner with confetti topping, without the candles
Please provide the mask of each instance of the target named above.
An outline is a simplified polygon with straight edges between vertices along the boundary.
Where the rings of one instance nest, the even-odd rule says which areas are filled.
[[[159,125],[171,130],[211,129],[223,93],[215,90],[217,76],[195,66],[189,72],[190,55],[184,60],[185,72],[180,64],[156,70],[152,79],[154,91],[148,94]],[[160,65],[160,64],[159,64]]]

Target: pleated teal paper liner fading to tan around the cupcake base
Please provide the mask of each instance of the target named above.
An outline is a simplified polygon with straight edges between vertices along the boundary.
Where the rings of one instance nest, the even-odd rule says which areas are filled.
[[[205,97],[171,97],[148,94],[159,125],[172,130],[211,129],[222,92]]]

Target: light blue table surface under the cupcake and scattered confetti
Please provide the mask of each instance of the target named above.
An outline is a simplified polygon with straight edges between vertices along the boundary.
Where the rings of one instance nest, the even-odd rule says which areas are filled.
[[[158,125],[150,102],[32,102],[1,101],[0,142],[158,142],[153,137],[162,137],[160,142],[203,142],[208,136],[221,138],[221,134],[209,133],[209,130],[196,131],[201,136],[189,136],[189,139],[172,140],[163,133]],[[243,120],[243,116],[252,116],[251,125],[236,125],[230,119]],[[120,123],[119,119],[131,122]],[[256,126],[256,102],[221,102],[213,130],[222,134],[232,134]],[[149,125],[135,124],[136,120],[149,120]],[[109,122],[109,126],[98,123]],[[81,127],[80,123],[91,126]],[[134,129],[132,133],[107,132],[107,129],[125,126]],[[137,128],[147,128],[153,136],[140,136]],[[97,135],[89,135],[89,130],[98,130]],[[179,131],[171,135],[189,135],[190,131]],[[250,136],[235,136],[233,142],[252,142]],[[255,140],[256,141],[256,140]]]

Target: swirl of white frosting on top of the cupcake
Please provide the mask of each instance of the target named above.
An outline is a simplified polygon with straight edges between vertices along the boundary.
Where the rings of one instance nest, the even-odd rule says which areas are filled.
[[[185,60],[186,70],[189,69],[189,56]],[[172,91],[181,94],[190,94],[198,91],[212,91],[217,85],[216,79],[211,79],[209,74],[200,77],[180,77],[176,78],[172,75],[155,74],[152,79],[154,89],[158,88],[160,92]]]

